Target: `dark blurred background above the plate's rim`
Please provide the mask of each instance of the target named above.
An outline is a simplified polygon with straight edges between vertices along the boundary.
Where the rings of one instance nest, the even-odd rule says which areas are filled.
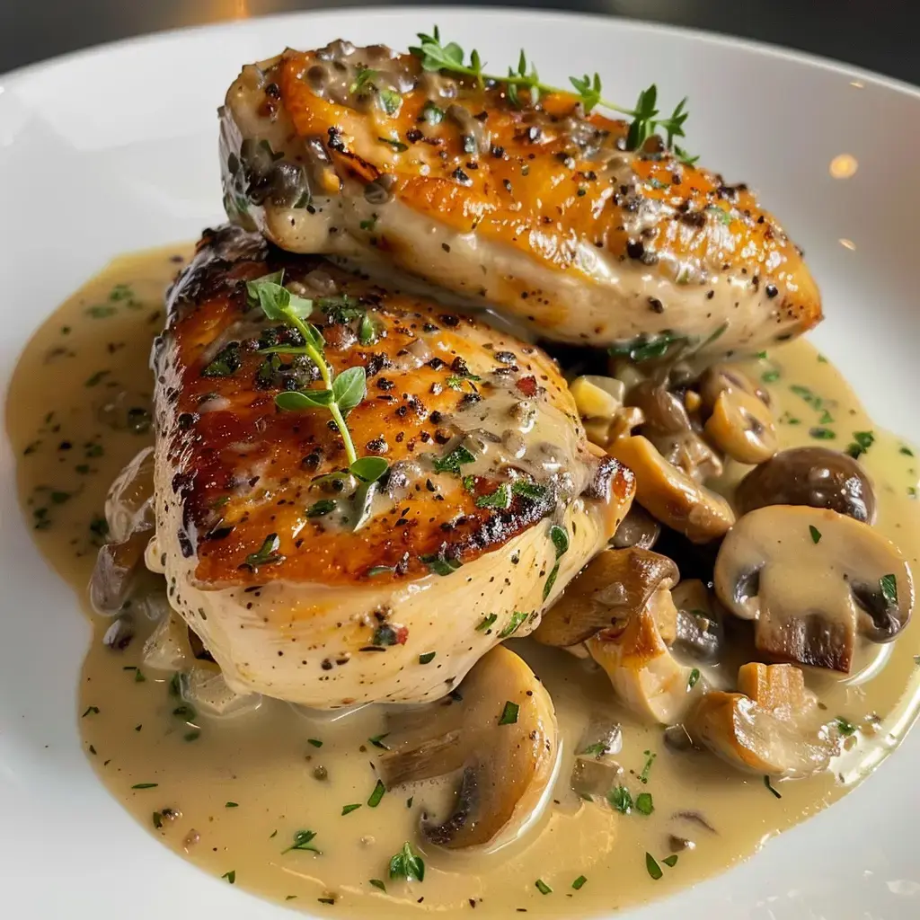
[[[426,0],[425,6],[435,6]],[[774,42],[920,84],[916,0],[469,0],[646,19]],[[0,0],[0,73],[100,41],[374,0]],[[400,6],[416,6],[404,2]]]

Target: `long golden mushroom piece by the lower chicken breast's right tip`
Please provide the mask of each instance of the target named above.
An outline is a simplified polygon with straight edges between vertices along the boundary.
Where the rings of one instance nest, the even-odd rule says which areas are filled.
[[[648,438],[620,438],[609,452],[636,474],[639,504],[694,543],[714,540],[734,523],[728,501],[669,464]]]

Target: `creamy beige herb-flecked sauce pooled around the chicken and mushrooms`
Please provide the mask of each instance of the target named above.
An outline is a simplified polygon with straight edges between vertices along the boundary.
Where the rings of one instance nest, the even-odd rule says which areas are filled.
[[[178,247],[115,260],[40,328],[10,389],[23,512],[42,552],[84,601],[104,538],[109,484],[152,439],[147,356],[162,326],[163,291],[188,254]],[[777,349],[747,370],[768,386],[784,448],[842,449],[853,432],[873,430],[840,374],[806,342]],[[821,397],[821,408],[810,395]],[[916,572],[920,458],[897,438],[874,433],[861,460],[876,486],[877,526]],[[730,470],[727,482],[741,472]],[[749,857],[867,776],[913,722],[920,677],[917,616],[893,645],[872,647],[876,657],[863,651],[846,680],[809,673],[828,718],[857,731],[832,771],[775,782],[772,791],[762,777],[742,775],[708,753],[672,752],[661,730],[638,725],[617,707],[595,666],[527,640],[512,643],[557,710],[563,754],[554,800],[540,825],[514,845],[460,857],[419,844],[421,816],[444,814],[450,790],[443,784],[374,796],[374,763],[383,751],[371,739],[386,730],[382,708],[306,714],[266,699],[233,719],[194,715],[171,693],[170,673],[144,666],[144,638],[154,624],[143,612],[121,650],[103,643],[112,621],[89,618],[94,635],[76,715],[87,756],[112,794],[150,833],[206,871],[316,914],[476,908],[571,916],[691,885]],[[570,791],[573,752],[585,743],[589,719],[622,724],[621,782],[633,799],[650,795],[650,814],[621,814]],[[307,845],[318,853],[290,849],[306,830],[315,832]],[[673,838],[695,846],[680,850],[671,866],[664,860],[673,855]],[[407,840],[425,859],[421,882],[388,877],[390,857]],[[661,878],[653,878],[659,873],[647,854]]]

